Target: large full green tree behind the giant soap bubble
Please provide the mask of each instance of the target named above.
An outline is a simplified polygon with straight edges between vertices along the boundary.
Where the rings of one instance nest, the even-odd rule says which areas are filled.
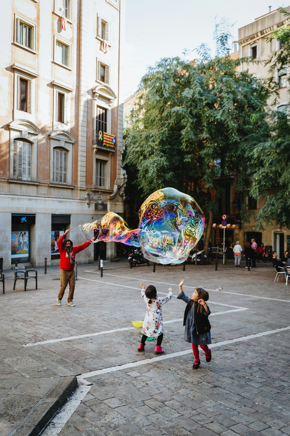
[[[207,217],[208,250],[214,212],[225,181],[250,187],[253,149],[268,137],[268,91],[230,58],[227,35],[218,53],[203,48],[199,62],[162,59],[140,83],[141,94],[126,133],[127,166],[136,167],[144,195],[172,186],[193,196]]]

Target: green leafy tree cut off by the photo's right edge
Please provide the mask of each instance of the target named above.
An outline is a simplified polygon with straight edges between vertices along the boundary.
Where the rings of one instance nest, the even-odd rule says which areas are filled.
[[[280,12],[290,18],[287,10],[280,8]],[[290,26],[277,28],[267,39],[269,42],[273,39],[280,41],[280,48],[273,51],[266,61],[270,73],[268,83],[276,103],[279,96],[277,71],[290,64]],[[256,218],[258,228],[264,229],[273,222],[290,228],[290,119],[287,112],[272,111],[269,124],[272,135],[253,150],[254,174],[250,194],[264,200]]]

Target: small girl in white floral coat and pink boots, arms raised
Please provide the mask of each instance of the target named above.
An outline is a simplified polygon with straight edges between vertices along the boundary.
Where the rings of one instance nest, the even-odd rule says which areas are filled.
[[[161,342],[163,339],[163,324],[162,324],[162,304],[165,304],[170,298],[173,297],[173,291],[169,288],[169,294],[166,297],[157,297],[155,286],[149,285],[145,290],[145,285],[141,284],[141,297],[146,303],[146,313],[142,326],[142,339],[138,347],[138,351],[143,351],[147,337],[157,336],[157,345],[155,347],[155,354],[164,353],[161,350]]]

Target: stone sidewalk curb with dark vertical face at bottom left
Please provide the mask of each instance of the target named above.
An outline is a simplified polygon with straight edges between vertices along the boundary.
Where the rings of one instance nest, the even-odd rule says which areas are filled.
[[[9,436],[38,436],[76,388],[75,375],[60,377]]]

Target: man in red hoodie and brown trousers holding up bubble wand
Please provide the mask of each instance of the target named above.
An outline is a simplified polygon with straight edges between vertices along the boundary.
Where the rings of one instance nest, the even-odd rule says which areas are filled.
[[[74,274],[75,255],[80,251],[87,248],[94,238],[90,241],[84,242],[82,245],[73,246],[73,242],[70,239],[64,239],[65,235],[70,231],[67,229],[57,241],[58,251],[60,252],[60,292],[57,296],[57,306],[61,306],[61,300],[63,298],[64,291],[70,284],[70,290],[67,298],[68,305],[73,307],[73,293],[76,284],[76,276]]]

